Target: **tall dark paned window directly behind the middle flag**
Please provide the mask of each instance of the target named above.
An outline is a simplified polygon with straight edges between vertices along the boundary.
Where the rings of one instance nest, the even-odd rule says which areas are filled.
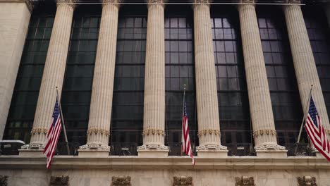
[[[166,145],[169,145],[171,155],[180,155],[176,144],[181,142],[183,85],[186,85],[190,140],[193,148],[198,145],[191,11],[185,6],[169,6],[165,13]]]

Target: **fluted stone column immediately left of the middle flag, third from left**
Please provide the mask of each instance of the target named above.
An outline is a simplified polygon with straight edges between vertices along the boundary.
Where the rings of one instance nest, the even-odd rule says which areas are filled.
[[[143,145],[139,156],[167,156],[165,136],[165,34],[164,0],[148,0],[145,56]]]

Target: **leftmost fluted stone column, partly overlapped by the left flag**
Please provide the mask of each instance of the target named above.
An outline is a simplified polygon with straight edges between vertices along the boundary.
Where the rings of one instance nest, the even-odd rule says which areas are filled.
[[[56,87],[59,89],[59,94],[62,91],[73,19],[74,5],[71,4],[72,2],[72,0],[57,1],[56,16],[42,75],[31,140],[30,144],[22,147],[20,153],[44,149],[47,132],[52,122],[56,101]]]

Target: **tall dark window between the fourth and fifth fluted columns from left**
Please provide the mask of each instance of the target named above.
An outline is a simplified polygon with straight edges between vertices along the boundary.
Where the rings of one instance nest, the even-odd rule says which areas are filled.
[[[250,111],[237,11],[231,7],[219,11],[217,6],[211,10],[221,142],[225,146],[251,143]]]

